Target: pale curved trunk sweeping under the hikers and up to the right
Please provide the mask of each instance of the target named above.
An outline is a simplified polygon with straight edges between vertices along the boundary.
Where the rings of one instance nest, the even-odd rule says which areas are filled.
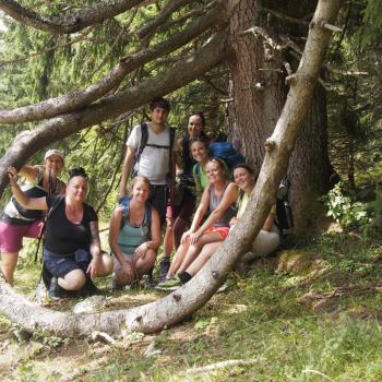
[[[332,24],[339,5],[339,0],[319,1],[299,69],[288,77],[290,89],[286,104],[272,136],[266,140],[264,162],[250,196],[249,207],[220,249],[193,279],[155,302],[130,310],[87,315],[51,312],[38,308],[25,299],[17,298],[8,285],[0,283],[0,311],[28,331],[40,329],[68,335],[89,334],[95,329],[116,333],[122,326],[154,333],[182,321],[202,307],[224,282],[241,253],[249,248],[268,214],[313,99],[331,36],[331,32],[322,26],[323,22]]]

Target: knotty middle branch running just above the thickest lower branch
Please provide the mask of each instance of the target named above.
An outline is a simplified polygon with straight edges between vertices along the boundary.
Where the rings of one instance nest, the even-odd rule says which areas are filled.
[[[128,73],[140,65],[164,55],[167,55],[193,38],[198,37],[218,21],[219,8],[216,7],[205,15],[171,38],[154,47],[143,49],[135,55],[122,58],[120,62],[100,81],[81,92],[70,92],[63,96],[43,100],[41,103],[23,106],[13,110],[0,110],[0,123],[21,123],[39,121],[61,114],[74,111],[92,104],[112,88],[117,87]]]

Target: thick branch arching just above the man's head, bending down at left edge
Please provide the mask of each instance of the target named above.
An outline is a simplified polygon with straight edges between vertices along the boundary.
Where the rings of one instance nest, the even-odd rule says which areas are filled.
[[[14,139],[11,147],[0,159],[0,196],[8,182],[8,166],[21,167],[36,151],[52,142],[145,105],[155,96],[170,93],[204,74],[224,58],[225,37],[220,34],[212,38],[191,59],[177,62],[156,77],[103,98],[99,103],[89,105],[81,111],[56,117],[32,131],[24,131]]]

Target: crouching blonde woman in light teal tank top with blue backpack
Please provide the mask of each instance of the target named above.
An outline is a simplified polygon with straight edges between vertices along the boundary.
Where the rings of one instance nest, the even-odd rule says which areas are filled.
[[[148,179],[136,176],[131,195],[111,216],[109,244],[115,254],[116,289],[139,282],[144,274],[152,275],[160,246],[160,222],[158,212],[146,203],[148,194]]]

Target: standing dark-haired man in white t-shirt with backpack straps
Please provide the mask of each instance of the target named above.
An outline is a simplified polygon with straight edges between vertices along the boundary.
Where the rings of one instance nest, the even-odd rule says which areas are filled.
[[[152,121],[146,122],[148,138],[142,153],[140,153],[141,124],[133,128],[128,139],[119,196],[126,195],[126,183],[138,154],[134,172],[150,180],[152,188],[148,202],[158,211],[160,224],[163,225],[166,220],[167,201],[170,199],[174,190],[175,152],[178,150],[178,146],[176,140],[171,140],[170,128],[166,123],[170,111],[168,100],[165,98],[153,99],[150,104],[150,110]],[[168,194],[168,187],[170,188],[170,194]]]

